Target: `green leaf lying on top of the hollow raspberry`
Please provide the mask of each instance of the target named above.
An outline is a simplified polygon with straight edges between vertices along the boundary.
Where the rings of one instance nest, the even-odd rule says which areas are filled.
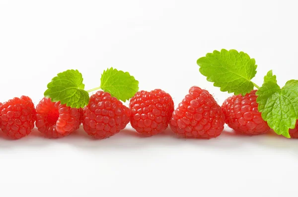
[[[60,101],[72,108],[83,108],[89,102],[89,94],[84,87],[82,74],[78,70],[66,70],[52,79],[44,95],[53,102]]]

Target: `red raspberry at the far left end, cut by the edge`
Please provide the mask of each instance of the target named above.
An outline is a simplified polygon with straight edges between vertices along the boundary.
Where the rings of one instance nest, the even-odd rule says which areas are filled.
[[[0,105],[1,130],[13,139],[28,135],[34,128],[35,108],[31,98],[21,96]]]

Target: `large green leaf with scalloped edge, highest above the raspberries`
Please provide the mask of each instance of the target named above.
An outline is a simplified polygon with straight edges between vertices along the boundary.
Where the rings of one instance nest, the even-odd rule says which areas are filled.
[[[200,72],[221,91],[245,95],[253,90],[251,79],[257,73],[254,59],[236,50],[214,51],[198,59]]]

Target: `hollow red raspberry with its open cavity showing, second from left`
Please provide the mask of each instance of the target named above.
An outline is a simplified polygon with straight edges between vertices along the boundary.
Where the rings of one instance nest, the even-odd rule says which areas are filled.
[[[71,134],[81,124],[82,109],[67,107],[43,98],[36,106],[36,127],[45,137],[58,138]]]

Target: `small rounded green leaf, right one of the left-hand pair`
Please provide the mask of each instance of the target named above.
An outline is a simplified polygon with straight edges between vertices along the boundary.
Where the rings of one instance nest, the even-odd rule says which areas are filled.
[[[133,97],[139,90],[139,81],[128,72],[114,68],[104,70],[100,78],[100,88],[123,102]]]

